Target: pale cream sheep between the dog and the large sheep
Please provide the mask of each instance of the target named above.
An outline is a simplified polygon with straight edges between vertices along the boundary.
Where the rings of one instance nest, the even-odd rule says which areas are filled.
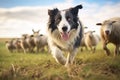
[[[93,34],[94,32],[95,31],[88,31],[84,33],[81,44],[81,47],[84,46],[86,49],[90,48],[93,53],[95,53],[96,46],[100,42],[99,36],[97,34]]]

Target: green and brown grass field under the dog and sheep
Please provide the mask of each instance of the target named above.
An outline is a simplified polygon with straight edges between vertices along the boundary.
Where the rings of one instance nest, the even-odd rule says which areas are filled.
[[[71,69],[55,62],[50,53],[9,53],[0,39],[0,80],[120,80],[120,55],[106,56],[101,44],[96,53],[78,52]]]

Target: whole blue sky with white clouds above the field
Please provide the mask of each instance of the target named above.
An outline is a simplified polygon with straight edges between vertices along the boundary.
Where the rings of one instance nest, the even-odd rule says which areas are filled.
[[[41,30],[45,34],[47,11],[83,5],[79,18],[88,30],[99,32],[95,24],[120,17],[120,0],[0,0],[0,37],[20,37]]]

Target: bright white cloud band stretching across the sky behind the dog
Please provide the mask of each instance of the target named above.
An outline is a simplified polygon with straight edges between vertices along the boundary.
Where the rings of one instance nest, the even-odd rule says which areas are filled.
[[[79,10],[79,17],[84,26],[88,26],[90,30],[98,32],[99,27],[95,25],[97,22],[111,17],[120,17],[120,3],[98,5],[82,2],[82,4],[83,9]],[[32,29],[42,29],[42,33],[45,33],[48,21],[47,10],[55,7],[65,9],[73,5],[75,5],[73,0],[66,0],[63,3],[43,7],[0,8],[0,37],[19,37],[23,33],[32,34]]]

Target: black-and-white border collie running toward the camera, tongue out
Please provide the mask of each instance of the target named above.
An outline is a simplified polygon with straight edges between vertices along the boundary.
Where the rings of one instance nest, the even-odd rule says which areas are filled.
[[[66,67],[73,64],[83,36],[82,23],[78,18],[79,9],[82,9],[82,5],[65,10],[48,9],[47,32],[51,54],[58,63]],[[67,58],[63,52],[68,52]]]

